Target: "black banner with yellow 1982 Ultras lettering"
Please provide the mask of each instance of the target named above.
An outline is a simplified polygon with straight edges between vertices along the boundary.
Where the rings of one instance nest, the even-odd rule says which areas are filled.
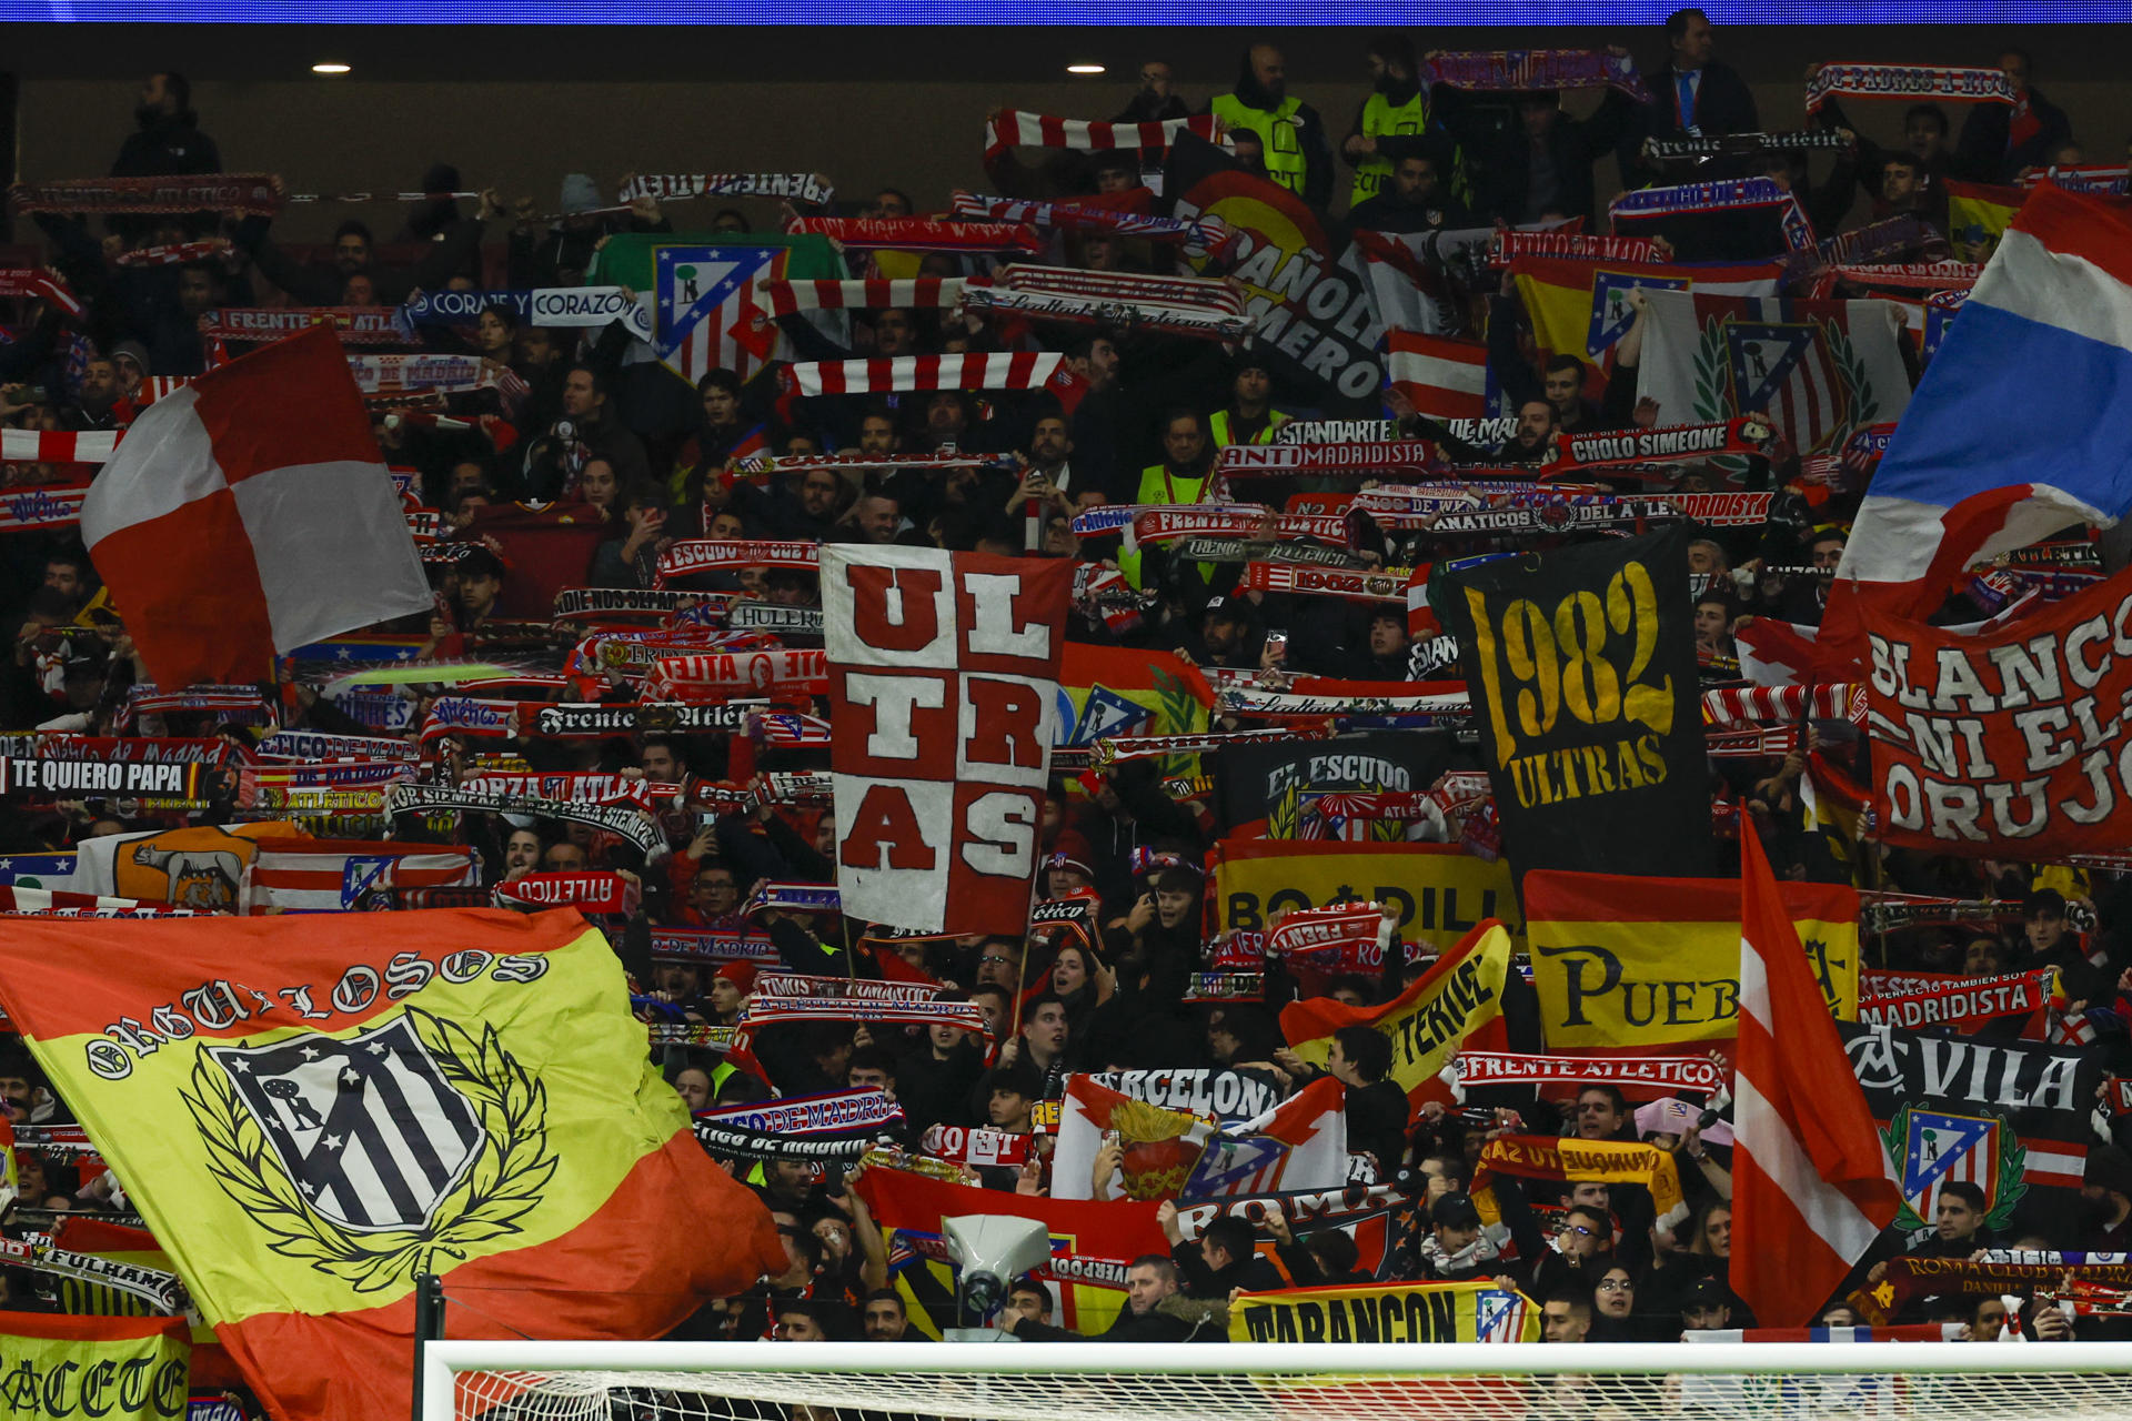
[[[1428,586],[1458,637],[1512,865],[1701,873],[1703,726],[1682,528]]]

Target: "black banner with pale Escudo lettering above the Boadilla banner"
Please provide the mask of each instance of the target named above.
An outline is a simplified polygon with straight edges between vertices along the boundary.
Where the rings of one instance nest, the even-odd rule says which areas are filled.
[[[1266,837],[1294,839],[1303,824],[1305,790],[1375,795],[1426,790],[1452,767],[1452,737],[1416,731],[1369,731],[1315,741],[1228,746],[1215,761],[1222,775],[1222,814],[1230,827],[1266,820]],[[1388,824],[1384,837],[1405,837]]]

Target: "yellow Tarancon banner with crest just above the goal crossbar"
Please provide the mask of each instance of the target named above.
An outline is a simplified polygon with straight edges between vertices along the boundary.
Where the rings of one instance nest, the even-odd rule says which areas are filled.
[[[1492,1283],[1392,1283],[1241,1293],[1230,1342],[1537,1342],[1539,1310]]]

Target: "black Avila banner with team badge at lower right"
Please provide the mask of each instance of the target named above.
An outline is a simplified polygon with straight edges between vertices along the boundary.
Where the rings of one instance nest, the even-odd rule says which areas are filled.
[[[1902,1185],[1895,1227],[1932,1227],[1940,1187],[1957,1180],[1985,1191],[1989,1229],[2008,1227],[2034,1189],[2081,1187],[2104,1074],[2096,1052],[1902,1027],[1838,1031]]]

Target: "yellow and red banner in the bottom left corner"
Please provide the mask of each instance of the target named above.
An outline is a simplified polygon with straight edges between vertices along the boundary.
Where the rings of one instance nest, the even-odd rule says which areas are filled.
[[[192,1344],[181,1317],[0,1312],[9,1417],[183,1421]]]

